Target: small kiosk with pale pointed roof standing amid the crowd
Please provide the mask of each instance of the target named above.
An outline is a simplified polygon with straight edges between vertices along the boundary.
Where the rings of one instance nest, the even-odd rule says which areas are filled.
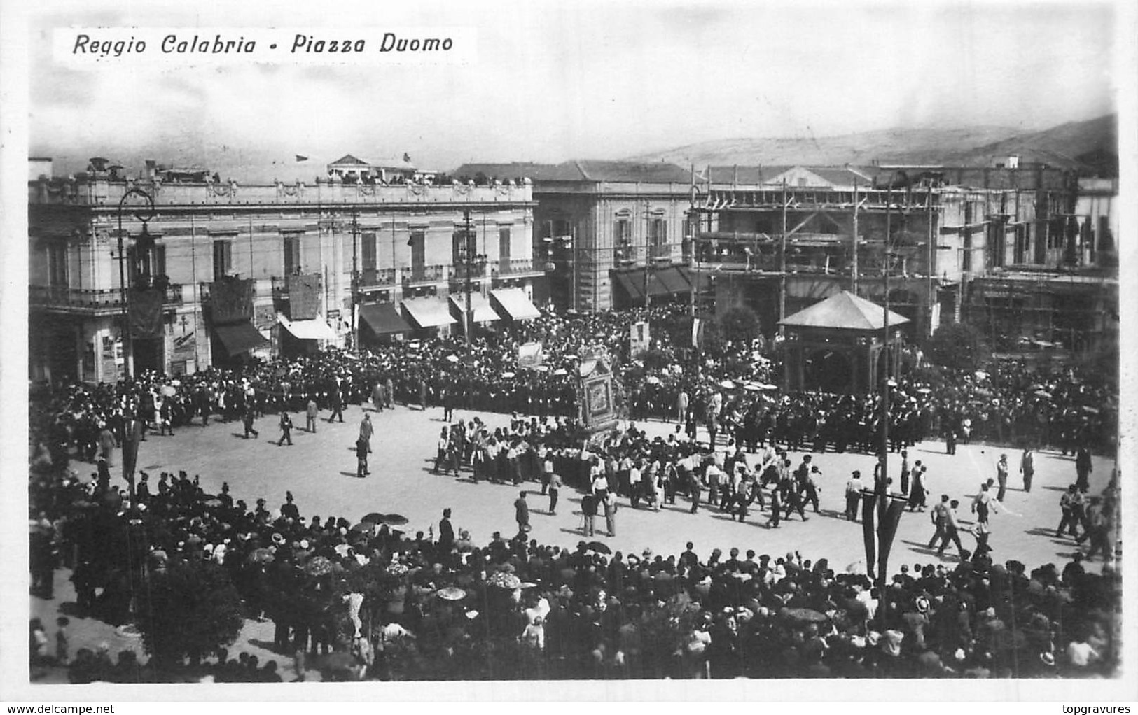
[[[835,293],[778,322],[785,340],[783,388],[787,391],[875,392],[884,376],[882,354],[896,375],[901,331],[909,319],[849,291]],[[889,350],[885,351],[887,343]]]

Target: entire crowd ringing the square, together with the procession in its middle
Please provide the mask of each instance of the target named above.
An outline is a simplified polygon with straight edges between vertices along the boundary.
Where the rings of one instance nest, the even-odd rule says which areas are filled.
[[[629,325],[637,321],[653,326],[654,340],[632,355]],[[582,533],[588,538],[602,513],[604,531],[616,533],[618,498],[633,508],[660,509],[682,496],[692,512],[704,506],[740,521],[761,514],[769,527],[794,515],[806,521],[808,512],[819,510],[826,484],[820,455],[877,451],[877,397],[782,393],[770,384],[778,367],[772,346],[727,343],[712,356],[690,347],[690,334],[682,311],[669,307],[546,314],[470,348],[436,338],[176,377],[147,373],[114,385],[34,388],[33,588],[50,597],[53,569],[67,567],[80,610],[121,624],[145,615],[140,580],[208,565],[237,589],[246,617],[273,621],[274,650],[295,659],[300,679],[306,659],[324,664],[336,654],[344,657],[337,668],[322,670],[325,677],[1000,677],[1112,671],[1118,574],[1110,565],[1100,575],[1088,574],[1081,558],[1062,571],[992,563],[987,516],[999,508],[995,493],[978,500],[982,516],[971,549],[958,539],[957,505],[930,499],[931,543],[940,540],[943,551],[955,541],[958,560],[951,568],[939,559],[912,572],[905,566],[882,590],[858,569],[835,569],[824,558],[811,563],[794,552],[772,558],[733,550],[724,558],[715,550],[700,557],[690,546],[681,555],[626,557],[608,554],[601,542],[583,541],[576,549],[538,544],[526,538],[525,492],[516,504],[518,535],[495,534],[476,547],[462,530],[455,535],[450,513],[438,539],[421,532],[411,538],[356,515],[305,518],[291,494],[277,508],[263,498],[251,506],[234,499],[228,485],[208,494],[184,472],[162,473],[155,482],[140,473],[133,499],[112,483],[115,449],[125,441],[205,429],[211,418],[244,421],[248,437],[257,434],[254,421],[265,414],[300,411],[315,430],[313,411],[343,418],[347,404],[513,411],[510,425],[495,430],[478,417],[451,419],[438,439],[435,469],[539,484],[550,513],[562,487],[579,490]],[[544,363],[519,369],[518,347],[530,341],[544,344]],[[638,418],[675,421],[673,433],[650,439],[633,425],[583,444],[575,373],[579,351],[599,346],[611,355],[620,406]],[[920,359],[897,376],[892,406],[891,447],[899,452],[937,437],[949,451],[957,440],[978,439],[1020,443],[1025,454],[1044,446],[1072,454],[1087,444],[1111,449],[1104,434],[1118,410],[1116,398],[1094,375],[1019,364],[965,374]],[[808,450],[818,459],[807,456],[795,465],[789,458]],[[875,472],[864,487],[859,475],[851,477],[844,493],[896,491],[910,509],[924,510],[924,469],[920,463],[910,468],[905,457],[899,484]],[[61,477],[59,467],[71,458],[97,463],[93,479],[74,472]],[[362,476],[366,451],[361,459]],[[1085,538],[1100,535],[1089,516],[1103,508],[1080,502],[1091,498],[1066,498],[1058,531],[1065,526],[1074,537],[1081,526]],[[847,499],[844,516],[857,518],[856,499]],[[1091,546],[1103,550],[1099,541]],[[879,608],[884,622],[875,617]],[[44,639],[42,624],[33,624],[33,658],[43,657]],[[197,655],[207,665],[195,672],[207,667],[217,681],[279,677],[275,662],[269,668],[251,656]],[[69,660],[72,677],[173,676],[168,664],[132,658],[110,665],[109,654],[81,649]],[[212,658],[218,660],[208,665]]]

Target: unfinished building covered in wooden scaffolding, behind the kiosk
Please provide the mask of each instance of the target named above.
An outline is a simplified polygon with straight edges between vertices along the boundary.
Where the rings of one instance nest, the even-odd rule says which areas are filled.
[[[768,333],[842,290],[882,302],[888,276],[910,338],[966,318],[997,343],[1087,348],[1116,333],[1116,196],[1042,166],[711,166],[692,267],[717,313],[747,305]]]

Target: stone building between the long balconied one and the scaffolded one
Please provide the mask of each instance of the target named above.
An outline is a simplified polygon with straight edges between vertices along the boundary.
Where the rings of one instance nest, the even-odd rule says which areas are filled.
[[[691,292],[685,265],[692,174],[674,164],[577,160],[465,164],[460,180],[533,181],[535,256],[547,298],[584,311],[673,300]]]

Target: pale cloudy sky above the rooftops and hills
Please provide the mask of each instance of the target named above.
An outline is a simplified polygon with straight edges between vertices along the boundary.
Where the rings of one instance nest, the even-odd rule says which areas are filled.
[[[468,160],[621,158],[702,141],[889,127],[1038,130],[1115,110],[1112,2],[308,1],[83,3],[30,20],[30,151],[57,172],[106,156],[254,166],[346,152]],[[89,63],[52,28],[468,27],[465,65]],[[273,163],[277,163],[275,165]],[[267,168],[266,168],[267,167]],[[278,172],[279,169],[279,172]],[[224,174],[224,172],[223,172]]]

